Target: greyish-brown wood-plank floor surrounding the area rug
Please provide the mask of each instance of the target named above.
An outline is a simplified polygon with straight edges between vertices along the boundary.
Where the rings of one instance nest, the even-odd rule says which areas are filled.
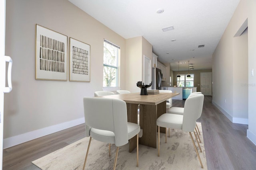
[[[172,100],[174,107],[184,107],[184,103]],[[246,137],[248,125],[232,123],[212,104],[211,96],[204,97],[198,122],[202,123],[208,170],[256,169],[256,146]],[[39,170],[33,160],[83,137],[84,124],[4,149],[3,170]]]

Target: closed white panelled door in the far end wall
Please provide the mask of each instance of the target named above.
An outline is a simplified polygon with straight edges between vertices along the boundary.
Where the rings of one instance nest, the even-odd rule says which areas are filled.
[[[201,72],[201,92],[212,96],[212,72]]]

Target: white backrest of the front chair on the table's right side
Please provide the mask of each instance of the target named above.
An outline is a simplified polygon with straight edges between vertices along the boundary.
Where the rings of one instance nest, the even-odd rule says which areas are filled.
[[[198,119],[202,114],[203,103],[203,94],[195,94],[186,99],[183,113],[183,131],[194,131],[194,128],[196,127],[196,119]]]

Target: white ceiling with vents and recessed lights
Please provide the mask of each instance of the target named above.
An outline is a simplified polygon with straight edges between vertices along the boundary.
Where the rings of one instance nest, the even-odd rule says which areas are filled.
[[[212,53],[240,0],[69,0],[125,39],[143,36],[162,63],[211,69]],[[164,12],[157,14],[162,8]],[[163,32],[162,28],[174,30]],[[171,41],[176,39],[176,41]],[[198,45],[205,45],[198,48]],[[194,49],[194,51],[191,51]],[[168,54],[167,54],[168,53]],[[192,58],[194,57],[194,58]],[[187,70],[180,64],[180,70]]]

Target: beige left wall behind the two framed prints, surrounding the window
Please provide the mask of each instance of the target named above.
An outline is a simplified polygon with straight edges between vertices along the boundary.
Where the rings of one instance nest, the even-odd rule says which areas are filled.
[[[90,45],[90,82],[35,80],[36,23],[68,36],[68,59],[70,37]],[[124,38],[68,0],[7,0],[6,55],[13,60],[13,90],[4,98],[4,139],[84,119],[83,97],[102,90],[104,39],[120,46],[120,88],[125,89]]]

